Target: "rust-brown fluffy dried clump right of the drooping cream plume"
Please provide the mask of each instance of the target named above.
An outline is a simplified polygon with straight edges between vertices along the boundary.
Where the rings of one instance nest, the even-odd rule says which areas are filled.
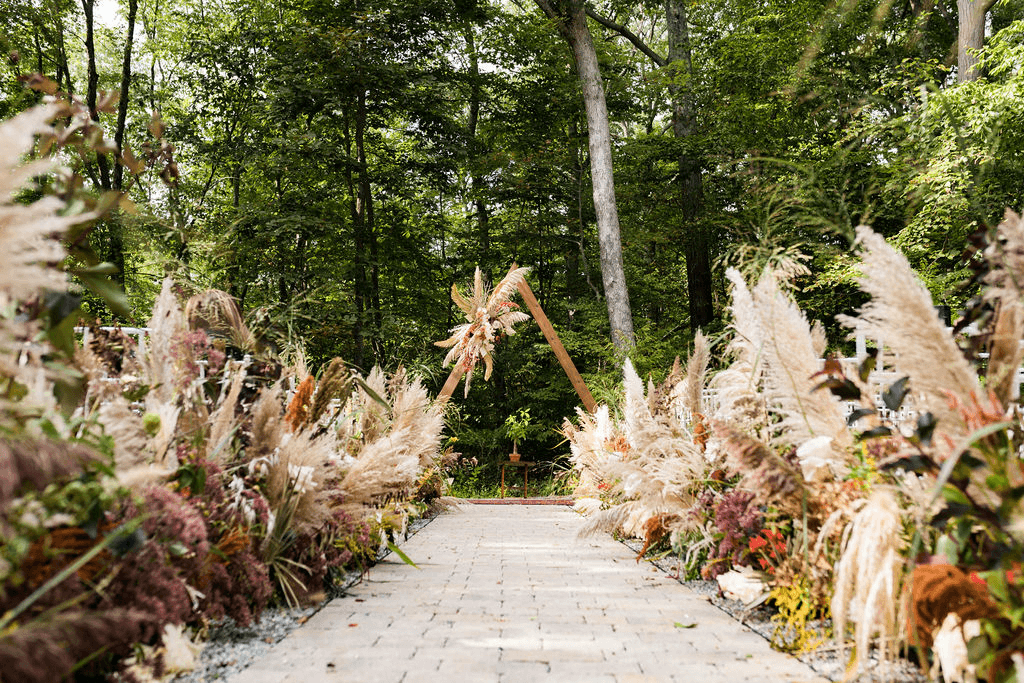
[[[976,584],[951,564],[919,564],[910,580],[910,642],[932,646],[932,634],[946,614],[955,612],[961,622],[993,618],[998,608],[988,589]]]

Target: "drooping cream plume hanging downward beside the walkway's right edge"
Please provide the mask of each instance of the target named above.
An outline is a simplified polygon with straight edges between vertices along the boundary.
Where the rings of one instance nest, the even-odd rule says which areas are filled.
[[[880,487],[844,531],[831,614],[841,649],[847,623],[855,624],[858,667],[870,659],[876,637],[881,659],[892,659],[899,649],[897,611],[904,566],[900,514],[893,492]]]

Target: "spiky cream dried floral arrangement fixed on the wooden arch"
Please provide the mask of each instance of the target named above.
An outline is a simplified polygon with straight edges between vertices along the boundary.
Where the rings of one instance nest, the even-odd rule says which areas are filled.
[[[449,366],[453,360],[458,362],[458,367],[466,374],[465,395],[469,395],[469,383],[476,364],[483,360],[483,379],[490,379],[495,344],[501,340],[502,335],[514,335],[513,326],[516,323],[529,319],[529,315],[517,310],[519,306],[509,300],[527,272],[529,268],[517,268],[513,265],[495,289],[488,292],[477,266],[471,297],[463,296],[459,286],[452,285],[452,300],[468,322],[452,328],[452,335],[447,339],[434,344],[441,348],[451,347],[442,365]]]

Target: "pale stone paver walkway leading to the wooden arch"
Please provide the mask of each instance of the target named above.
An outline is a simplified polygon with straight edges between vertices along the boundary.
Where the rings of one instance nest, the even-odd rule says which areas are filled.
[[[559,506],[445,513],[401,546],[419,569],[388,556],[232,680],[824,680],[582,524]]]

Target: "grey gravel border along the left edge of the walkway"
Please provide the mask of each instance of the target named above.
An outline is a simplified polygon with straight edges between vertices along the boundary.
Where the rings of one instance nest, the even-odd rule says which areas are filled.
[[[406,538],[413,536],[429,524],[437,515],[414,519],[409,523]],[[377,561],[387,557],[391,550],[384,546],[377,554]],[[260,614],[259,621],[241,627],[234,620],[226,618],[210,627],[209,637],[204,642],[196,669],[178,674],[174,683],[205,683],[222,681],[249,668],[253,661],[266,654],[271,647],[285,639],[315,614],[328,602],[344,597],[349,588],[359,583],[362,572],[358,569],[345,574],[340,586],[319,603],[292,609],[289,607],[268,607]]]

